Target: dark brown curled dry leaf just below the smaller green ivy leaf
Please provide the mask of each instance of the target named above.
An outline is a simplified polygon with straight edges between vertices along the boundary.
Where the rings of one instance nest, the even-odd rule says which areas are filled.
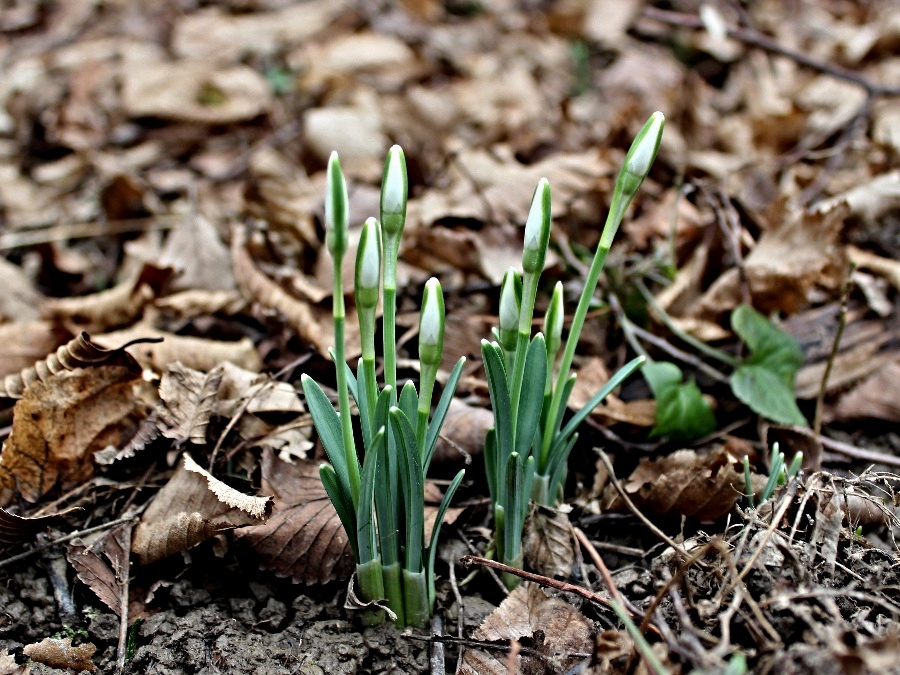
[[[643,511],[714,520],[728,513],[744,491],[743,469],[739,467],[739,462],[722,448],[711,455],[679,450],[659,459],[642,458],[622,485]],[[603,493],[603,508],[625,508],[613,485]]]

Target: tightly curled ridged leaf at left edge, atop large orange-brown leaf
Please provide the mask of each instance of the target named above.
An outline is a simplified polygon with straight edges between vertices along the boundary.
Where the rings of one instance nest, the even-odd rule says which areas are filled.
[[[76,368],[119,364],[136,367],[134,359],[125,352],[125,349],[136,344],[157,341],[158,338],[137,337],[121,347],[105,349],[96,342],[92,342],[90,335],[81,333],[60,346],[56,352],[43,361],[38,361],[15,375],[7,375],[3,378],[3,381],[0,382],[0,396],[22,398],[25,389],[35,382],[46,382],[58,373]]]

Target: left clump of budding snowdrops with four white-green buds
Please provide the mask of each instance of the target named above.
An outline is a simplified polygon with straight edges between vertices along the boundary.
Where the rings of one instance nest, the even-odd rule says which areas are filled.
[[[378,603],[400,625],[421,626],[434,609],[434,560],[440,525],[460,471],[444,495],[430,538],[425,538],[425,476],[465,359],[453,369],[431,414],[434,385],[443,355],[444,299],[437,279],[425,285],[419,324],[419,391],[407,382],[397,394],[397,256],[406,218],[406,163],[391,148],[382,179],[381,221],[363,225],[356,257],[355,300],[362,355],[356,373],[346,363],[344,289],[341,262],[347,250],[347,188],[336,154],[328,162],[325,201],[326,246],[334,261],[333,319],[338,409],[307,375],[303,392],[331,464],[319,475],[341,520],[353,557],[362,599]],[[382,290],[383,293],[379,293]],[[375,371],[376,314],[383,304],[385,383]],[[362,464],[350,415],[359,410]],[[375,609],[369,623],[383,618]]]

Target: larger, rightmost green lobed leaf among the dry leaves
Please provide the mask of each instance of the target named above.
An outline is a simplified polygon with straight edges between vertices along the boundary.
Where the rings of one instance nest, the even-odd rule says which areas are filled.
[[[803,365],[797,341],[748,305],[732,312],[731,327],[750,349],[731,375],[734,395],[773,422],[806,426],[794,394],[794,378]]]

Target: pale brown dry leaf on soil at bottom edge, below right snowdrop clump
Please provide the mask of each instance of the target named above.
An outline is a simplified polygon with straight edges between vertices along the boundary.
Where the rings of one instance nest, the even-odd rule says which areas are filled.
[[[532,638],[530,645],[544,655],[518,656],[520,673],[562,673],[581,660],[572,654],[590,653],[593,625],[572,605],[544,594],[540,586],[524,583],[507,596],[478,627],[473,637],[509,644],[510,640]],[[461,671],[465,675],[507,675],[502,655],[466,649]]]

